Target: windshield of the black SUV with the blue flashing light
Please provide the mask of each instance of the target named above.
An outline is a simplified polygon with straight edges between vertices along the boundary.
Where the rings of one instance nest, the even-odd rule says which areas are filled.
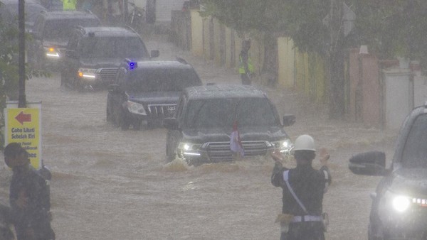
[[[130,92],[181,92],[198,85],[201,80],[192,69],[157,68],[130,72],[126,88]]]

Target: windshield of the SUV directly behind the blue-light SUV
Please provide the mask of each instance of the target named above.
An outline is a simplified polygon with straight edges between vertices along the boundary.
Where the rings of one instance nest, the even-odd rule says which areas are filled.
[[[147,58],[147,49],[137,37],[84,38],[79,46],[83,58]]]

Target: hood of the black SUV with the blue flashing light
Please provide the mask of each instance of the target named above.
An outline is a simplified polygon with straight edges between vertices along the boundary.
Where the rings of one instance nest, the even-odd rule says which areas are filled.
[[[130,101],[140,104],[176,104],[181,92],[127,92]]]

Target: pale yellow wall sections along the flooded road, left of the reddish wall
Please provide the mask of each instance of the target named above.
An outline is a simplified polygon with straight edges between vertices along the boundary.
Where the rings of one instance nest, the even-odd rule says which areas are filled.
[[[260,76],[264,62],[264,41],[261,33],[251,33],[251,58],[255,74]],[[191,51],[194,55],[213,60],[216,65],[231,67],[238,75],[243,36],[219,23],[216,18],[202,18],[199,11],[191,11]],[[304,92],[316,102],[325,102],[327,77],[322,58],[300,53],[290,38],[280,37],[278,43],[278,84]],[[256,81],[256,80],[255,80]]]

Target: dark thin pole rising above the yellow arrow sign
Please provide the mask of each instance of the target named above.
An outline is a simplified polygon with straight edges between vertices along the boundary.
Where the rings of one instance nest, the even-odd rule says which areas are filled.
[[[18,2],[18,18],[19,18],[19,94],[18,94],[18,107],[26,107],[25,96],[25,11],[24,0]]]

